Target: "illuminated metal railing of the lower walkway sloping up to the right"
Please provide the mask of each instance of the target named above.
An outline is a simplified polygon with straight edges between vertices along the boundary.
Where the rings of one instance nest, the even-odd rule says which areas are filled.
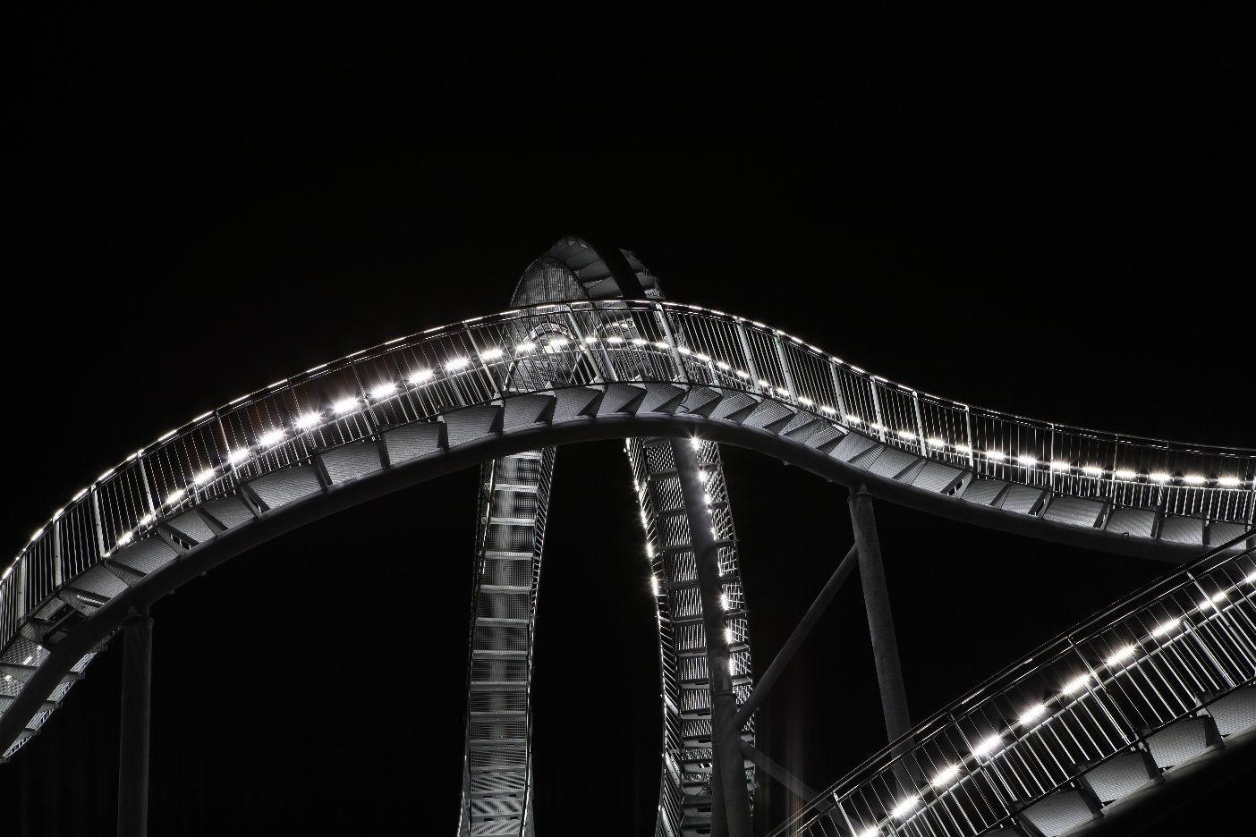
[[[1253,680],[1256,560],[1223,546],[917,725],[771,834],[973,837]]]

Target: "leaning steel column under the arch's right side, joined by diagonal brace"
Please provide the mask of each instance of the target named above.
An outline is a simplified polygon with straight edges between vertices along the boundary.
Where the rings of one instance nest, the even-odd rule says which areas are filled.
[[[885,733],[893,742],[912,728],[912,722],[907,714],[907,693],[903,690],[903,668],[898,661],[894,620],[889,612],[885,570],[880,563],[877,518],[872,511],[872,494],[865,486],[850,492],[849,503],[855,548],[859,551],[859,578],[863,581],[868,629],[872,631],[872,653],[877,660],[880,705],[885,713]]]

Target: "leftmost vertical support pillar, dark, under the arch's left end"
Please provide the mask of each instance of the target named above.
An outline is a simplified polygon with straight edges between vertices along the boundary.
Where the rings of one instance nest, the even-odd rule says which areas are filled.
[[[153,620],[132,606],[122,622],[122,745],[118,755],[118,837],[148,834],[148,720],[152,715]]]

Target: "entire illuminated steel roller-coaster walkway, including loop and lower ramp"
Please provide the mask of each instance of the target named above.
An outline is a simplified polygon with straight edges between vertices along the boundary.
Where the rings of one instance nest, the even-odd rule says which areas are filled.
[[[571,260],[550,256],[516,301],[566,301],[276,381],[132,454],[41,526],[0,578],[4,757],[128,615],[284,532],[480,467],[460,833],[533,833],[531,625],[549,481],[556,447],[594,439],[624,439],[654,573],[659,834],[726,827],[721,788],[736,783],[712,779],[712,737],[755,686],[718,444],[933,514],[1183,565],[923,724],[901,735],[891,724],[892,747],[774,833],[1061,833],[1250,737],[1253,452],[921,393],[764,324],[662,301],[631,253],[656,299],[574,299],[597,296],[597,281],[578,287]],[[623,275],[604,261],[610,279]],[[713,706],[721,694],[731,709]],[[754,753],[746,710],[736,733]],[[736,764],[750,792],[755,764]]]

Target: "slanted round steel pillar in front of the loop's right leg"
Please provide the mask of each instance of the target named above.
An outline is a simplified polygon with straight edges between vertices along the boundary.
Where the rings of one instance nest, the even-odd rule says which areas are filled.
[[[712,772],[711,819],[718,821],[716,802],[722,794],[728,837],[752,837],[750,793],[741,754],[741,730],[736,727],[737,696],[728,671],[728,639],[725,632],[720,553],[711,535],[711,514],[702,498],[698,457],[690,439],[672,439],[672,456],[690,520],[690,538],[697,558],[698,592],[702,599],[702,626],[707,645],[707,678],[711,684],[711,744],[718,768]],[[718,791],[716,789],[718,777]]]

